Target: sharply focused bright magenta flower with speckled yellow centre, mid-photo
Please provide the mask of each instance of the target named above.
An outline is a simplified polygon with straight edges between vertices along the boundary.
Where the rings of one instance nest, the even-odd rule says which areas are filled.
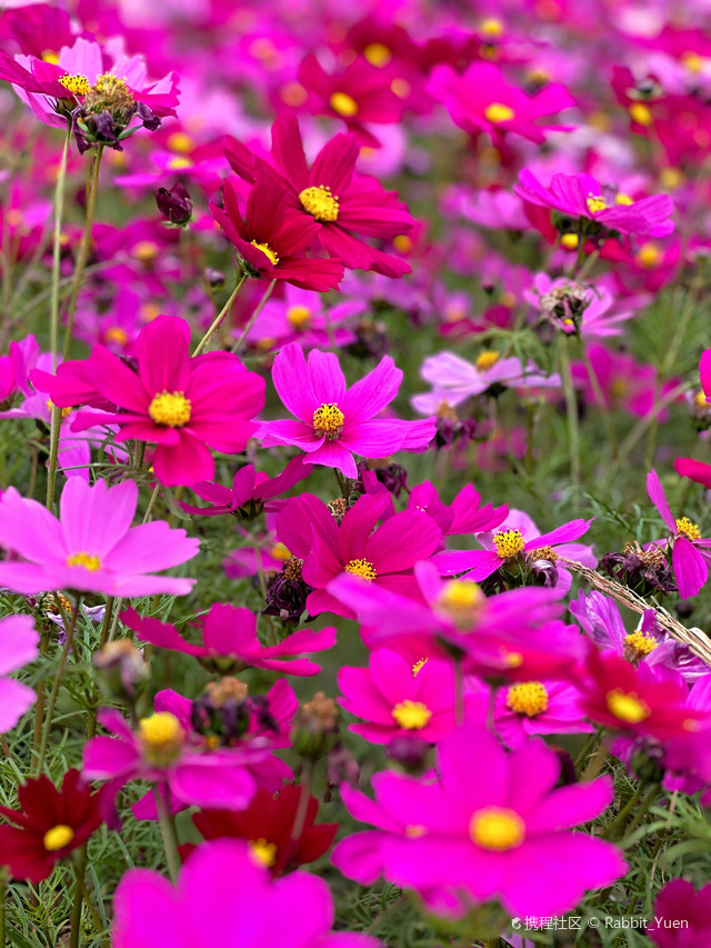
[[[274,387],[298,420],[266,421],[257,432],[264,448],[294,445],[303,462],[337,468],[357,478],[353,455],[384,458],[395,451],[423,451],[434,437],[434,419],[375,418],[397,396],[402,372],[385,356],[351,388],[332,352],[313,349],[306,360],[291,342],[274,359]]]

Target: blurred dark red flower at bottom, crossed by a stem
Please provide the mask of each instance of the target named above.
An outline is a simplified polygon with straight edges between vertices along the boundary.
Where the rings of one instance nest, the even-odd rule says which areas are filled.
[[[292,839],[294,819],[302,789],[289,784],[273,796],[259,789],[246,810],[203,810],[192,821],[206,839],[247,839],[252,855],[272,876],[281,876],[289,869],[313,862],[327,851],[338,830],[337,822],[317,825],[319,812],[316,797],[309,797],[303,829],[298,839]]]

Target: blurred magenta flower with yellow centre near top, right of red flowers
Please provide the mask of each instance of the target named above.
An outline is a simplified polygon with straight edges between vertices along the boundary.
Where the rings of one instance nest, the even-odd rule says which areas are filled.
[[[470,134],[489,132],[494,143],[500,143],[507,131],[538,143],[545,141],[547,131],[568,131],[571,126],[539,119],[575,104],[570,92],[553,82],[529,96],[510,86],[501,70],[489,62],[472,62],[461,76],[450,66],[438,66],[428,91],[444,104],[455,124]]]

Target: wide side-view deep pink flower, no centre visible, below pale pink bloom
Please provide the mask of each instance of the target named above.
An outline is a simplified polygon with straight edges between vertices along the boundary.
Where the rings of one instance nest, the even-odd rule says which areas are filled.
[[[204,646],[186,641],[174,626],[143,619],[134,609],[121,620],[144,642],[208,660],[222,673],[236,675],[244,668],[267,668],[288,675],[318,675],[321,668],[308,659],[287,661],[291,656],[326,651],[336,645],[336,629],[300,629],[276,646],[262,646],[257,637],[257,618],[249,609],[216,602],[202,621]]]

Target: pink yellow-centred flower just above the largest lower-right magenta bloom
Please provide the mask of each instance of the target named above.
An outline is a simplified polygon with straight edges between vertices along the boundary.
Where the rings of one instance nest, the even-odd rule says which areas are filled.
[[[397,651],[375,649],[368,668],[338,673],[339,705],[369,724],[349,730],[373,744],[414,735],[432,744],[454,728],[454,671],[451,661],[423,657],[412,663]],[[487,697],[481,688],[465,697],[465,716],[483,726]]]

